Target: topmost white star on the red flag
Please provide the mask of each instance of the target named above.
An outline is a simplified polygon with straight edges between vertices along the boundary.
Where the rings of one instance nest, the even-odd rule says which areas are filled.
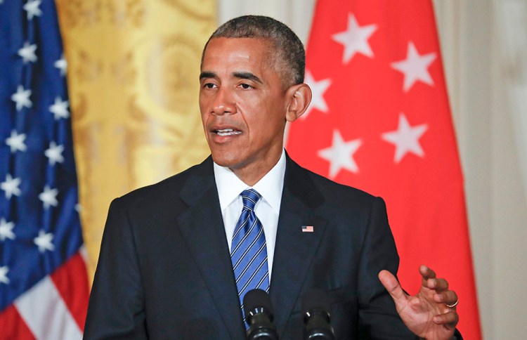
[[[377,30],[377,25],[367,25],[360,27],[355,18],[355,15],[348,14],[348,28],[337,34],[333,34],[334,41],[344,45],[344,54],[342,55],[342,63],[347,64],[353,58],[355,53],[362,53],[367,57],[372,58],[373,52],[367,40]]]

